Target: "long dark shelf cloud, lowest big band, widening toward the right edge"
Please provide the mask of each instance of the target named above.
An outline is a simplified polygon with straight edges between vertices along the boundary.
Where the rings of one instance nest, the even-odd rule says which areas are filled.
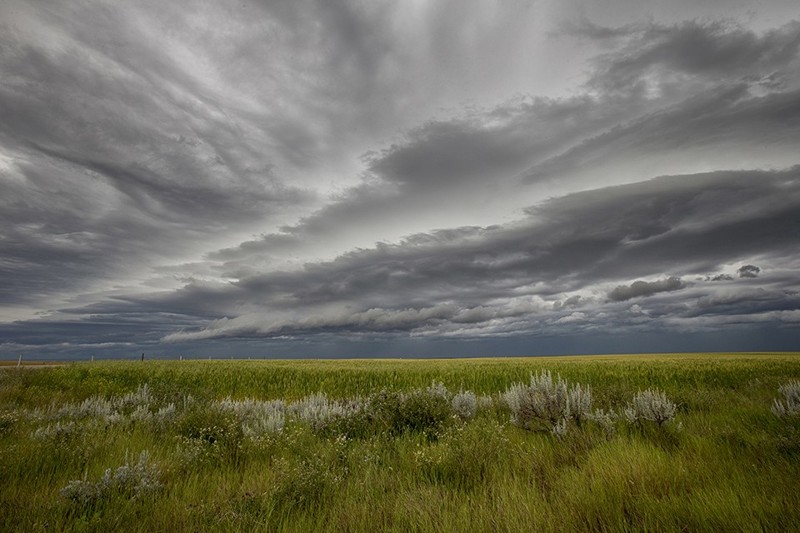
[[[219,308],[228,306],[228,316],[241,316],[168,339],[382,328],[466,332],[467,323],[502,332],[585,320],[583,311],[558,314],[562,295],[577,304],[574,293],[588,290],[584,305],[602,309],[605,294],[623,302],[690,286],[665,273],[703,274],[755,255],[791,262],[787,250],[800,229],[799,172],[662,177],[554,199],[512,225],[416,235],[216,292],[187,287],[187,308],[215,299]],[[772,212],[764,213],[765,206]],[[725,215],[709,219],[709,212]],[[636,280],[654,274],[662,279]],[[264,311],[237,312],[242,299]],[[687,308],[665,309],[668,315]]]

